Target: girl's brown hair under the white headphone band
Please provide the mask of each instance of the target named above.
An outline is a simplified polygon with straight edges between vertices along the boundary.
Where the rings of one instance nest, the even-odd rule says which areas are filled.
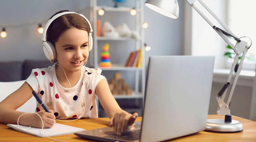
[[[66,12],[66,11],[68,10],[59,11],[54,15],[62,12]],[[52,15],[51,18],[54,15]],[[78,14],[65,14],[55,19],[51,23],[51,25],[49,26],[46,32],[46,40],[50,41],[55,47],[55,43],[59,40],[59,37],[63,34],[63,32],[65,32],[66,30],[72,27],[85,30],[88,33],[90,32],[90,26],[82,16]]]

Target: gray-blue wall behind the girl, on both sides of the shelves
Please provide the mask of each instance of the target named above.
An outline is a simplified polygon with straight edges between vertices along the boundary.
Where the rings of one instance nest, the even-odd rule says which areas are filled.
[[[89,4],[89,0],[1,0],[0,28],[6,27],[7,37],[0,38],[0,61],[45,60],[42,35],[37,32],[38,23],[41,22],[44,26],[52,14],[65,9],[78,11],[89,17]],[[98,4],[114,5],[112,0],[101,0]],[[123,3],[132,4],[131,0]],[[173,20],[144,7],[144,19],[149,24],[149,28],[145,30],[145,41],[151,46],[151,51],[146,52],[146,63],[151,55],[183,53],[182,10],[183,2],[180,3],[180,18]]]

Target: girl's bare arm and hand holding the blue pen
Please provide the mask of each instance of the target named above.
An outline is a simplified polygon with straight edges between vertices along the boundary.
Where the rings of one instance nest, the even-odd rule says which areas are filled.
[[[26,103],[29,98],[32,97],[32,88],[27,82],[14,91],[11,95],[7,96],[2,102],[0,102],[0,123],[17,124],[17,120],[24,112],[15,111],[21,105]],[[52,113],[38,112],[41,115],[44,128],[52,127],[55,123],[55,116]],[[35,113],[27,113],[19,119],[19,124],[23,126],[42,127],[41,119]]]

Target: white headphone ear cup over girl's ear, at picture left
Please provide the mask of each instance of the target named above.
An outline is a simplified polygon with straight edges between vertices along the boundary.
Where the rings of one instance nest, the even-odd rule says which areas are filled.
[[[54,60],[56,58],[56,52],[53,44],[49,41],[43,42],[44,55],[48,60]]]

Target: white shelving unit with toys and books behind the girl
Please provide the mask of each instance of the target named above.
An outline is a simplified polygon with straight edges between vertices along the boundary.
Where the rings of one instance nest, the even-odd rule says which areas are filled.
[[[129,0],[131,1],[131,0]],[[145,80],[146,80],[146,73],[145,73],[145,49],[144,47],[144,32],[142,28],[142,22],[143,22],[143,2],[141,0],[132,0],[134,1],[135,5],[133,7],[108,7],[105,5],[97,5],[97,0],[90,0],[90,21],[92,23],[93,28],[93,65],[94,68],[100,68],[103,72],[105,71],[133,71],[135,72],[135,89],[132,93],[132,95],[114,95],[116,99],[122,98],[122,99],[129,99],[129,98],[142,98],[144,97],[144,91],[145,91]],[[137,14],[135,16],[135,30],[139,33],[140,38],[139,39],[133,39],[133,38],[126,38],[126,37],[118,37],[118,38],[109,38],[109,37],[97,37],[97,20],[99,18],[98,10],[104,9],[105,13],[107,12],[118,12],[118,13],[130,13],[132,9],[137,11]],[[104,15],[103,15],[104,16]],[[118,18],[118,17],[117,17]],[[124,18],[118,18],[119,20],[122,20]],[[102,21],[104,22],[104,21]],[[129,25],[128,25],[129,26]],[[133,67],[125,67],[125,63],[122,64],[112,64],[111,68],[101,68],[99,66],[100,61],[98,60],[99,52],[98,50],[101,50],[101,47],[98,46],[98,42],[100,41],[117,41],[117,42],[125,42],[127,40],[134,40],[134,51],[138,49],[142,49],[142,68],[133,68]],[[123,47],[120,48],[127,48],[124,44]],[[111,46],[110,46],[111,50]],[[127,53],[127,56],[130,53]],[[115,56],[115,55],[111,55]],[[140,79],[141,77],[141,79]],[[139,88],[139,86],[141,88]]]

